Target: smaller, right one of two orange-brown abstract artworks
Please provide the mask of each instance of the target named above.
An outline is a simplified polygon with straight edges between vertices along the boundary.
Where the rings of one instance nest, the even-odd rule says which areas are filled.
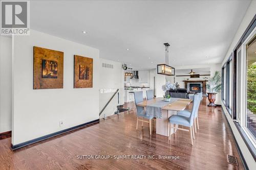
[[[93,87],[93,59],[74,55],[74,88]]]

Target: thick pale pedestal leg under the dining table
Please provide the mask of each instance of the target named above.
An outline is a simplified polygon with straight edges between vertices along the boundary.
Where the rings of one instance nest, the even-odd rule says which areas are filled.
[[[156,134],[169,136],[169,117],[177,114],[177,111],[174,110],[162,110],[162,118],[157,118],[156,121]],[[170,134],[173,134],[176,132],[176,129],[174,130],[172,128]]]

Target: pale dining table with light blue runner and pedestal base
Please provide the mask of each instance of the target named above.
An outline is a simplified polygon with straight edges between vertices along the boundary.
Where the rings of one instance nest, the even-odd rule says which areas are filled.
[[[184,110],[192,100],[171,98],[170,101],[164,101],[164,98],[154,98],[137,103],[138,106],[146,108],[146,114],[156,117],[156,134],[169,136],[169,117],[177,114],[178,111]],[[170,134],[176,132],[172,128]]]

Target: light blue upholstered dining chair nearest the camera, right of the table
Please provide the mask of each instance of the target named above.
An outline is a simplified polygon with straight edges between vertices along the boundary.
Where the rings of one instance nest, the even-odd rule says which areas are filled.
[[[175,130],[183,130],[183,131],[188,131],[190,132],[190,138],[191,138],[191,144],[193,145],[193,138],[195,138],[194,130],[193,130],[193,125],[194,125],[194,115],[196,114],[196,110],[198,109],[197,105],[200,104],[200,99],[199,95],[195,94],[194,95],[194,100],[193,100],[193,108],[190,113],[189,117],[182,116],[182,115],[172,115],[169,117],[169,124],[170,124],[170,129],[169,129],[169,140],[170,140],[170,133],[172,128]],[[176,125],[175,127],[172,125]],[[179,125],[188,127],[189,130],[179,128]]]

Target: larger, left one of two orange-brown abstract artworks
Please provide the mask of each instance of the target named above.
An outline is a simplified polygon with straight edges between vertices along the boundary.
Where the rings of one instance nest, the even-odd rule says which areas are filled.
[[[63,52],[34,46],[33,89],[63,88]]]

